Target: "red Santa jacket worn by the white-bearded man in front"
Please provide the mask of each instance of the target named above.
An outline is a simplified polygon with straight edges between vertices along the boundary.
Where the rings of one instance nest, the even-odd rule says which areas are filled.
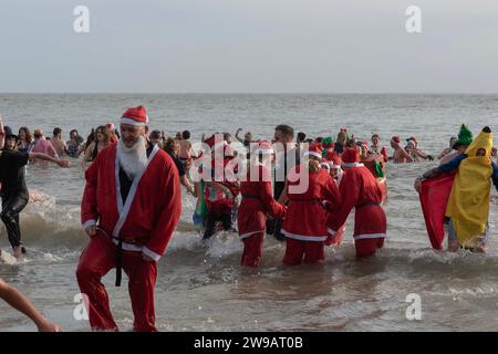
[[[97,223],[124,250],[159,260],[181,214],[178,170],[167,153],[154,147],[145,171],[132,185],[126,202],[120,187],[117,145],[103,149],[86,170],[81,221]]]

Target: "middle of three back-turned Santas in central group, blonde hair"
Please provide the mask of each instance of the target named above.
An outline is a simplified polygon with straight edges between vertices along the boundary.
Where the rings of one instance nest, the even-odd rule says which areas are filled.
[[[308,156],[308,160],[290,171],[286,185],[289,207],[282,226],[282,233],[287,238],[283,263],[289,266],[300,264],[303,257],[307,263],[324,259],[326,212],[333,211],[341,204],[336,184],[328,170],[320,168],[320,148],[311,144],[303,156]],[[303,189],[305,178],[308,186]]]

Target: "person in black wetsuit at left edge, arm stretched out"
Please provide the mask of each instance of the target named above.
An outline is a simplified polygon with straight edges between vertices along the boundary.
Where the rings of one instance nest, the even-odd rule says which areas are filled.
[[[17,150],[18,136],[12,134],[9,127],[4,127],[0,119],[0,196],[2,210],[0,219],[7,228],[9,242],[12,246],[13,256],[19,258],[25,249],[21,242],[19,215],[25,208],[29,192],[24,179],[24,166],[30,158],[44,159],[68,167],[69,163],[55,159],[40,153],[21,153]]]

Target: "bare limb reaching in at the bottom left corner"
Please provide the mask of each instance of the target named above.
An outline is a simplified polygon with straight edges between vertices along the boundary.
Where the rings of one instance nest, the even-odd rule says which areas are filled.
[[[61,332],[61,327],[46,320],[33,304],[24,296],[19,290],[10,287],[3,280],[0,279],[0,298],[8,304],[25,314],[37,325],[40,332]]]

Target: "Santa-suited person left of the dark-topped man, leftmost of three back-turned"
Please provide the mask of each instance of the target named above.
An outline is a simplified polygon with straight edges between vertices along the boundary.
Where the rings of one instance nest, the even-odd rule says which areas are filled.
[[[251,152],[251,160],[247,180],[240,183],[242,201],[237,215],[238,229],[243,242],[240,263],[246,267],[258,267],[262,254],[263,235],[267,214],[282,219],[286,207],[273,199],[271,190],[270,159],[273,148],[268,142],[260,142]]]

